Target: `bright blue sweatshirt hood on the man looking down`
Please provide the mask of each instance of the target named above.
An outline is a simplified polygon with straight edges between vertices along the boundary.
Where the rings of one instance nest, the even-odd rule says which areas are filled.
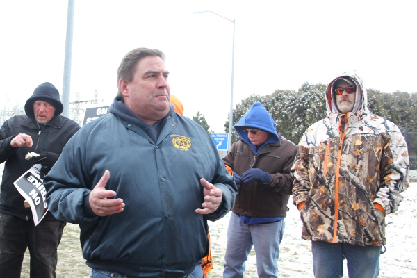
[[[252,142],[250,142],[249,138],[247,138],[247,134],[243,132],[243,129],[246,127],[250,129],[261,129],[263,131],[267,131],[271,134],[271,138],[262,146],[256,147],[252,144]],[[279,136],[277,134],[277,129],[275,129],[274,119],[272,119],[270,113],[266,111],[261,102],[256,102],[254,105],[252,105],[249,111],[247,111],[245,115],[243,115],[243,117],[239,120],[239,122],[234,125],[234,128],[240,138],[242,138],[244,142],[247,142],[247,144],[249,144],[252,149],[254,149],[255,153],[266,144],[279,142]]]

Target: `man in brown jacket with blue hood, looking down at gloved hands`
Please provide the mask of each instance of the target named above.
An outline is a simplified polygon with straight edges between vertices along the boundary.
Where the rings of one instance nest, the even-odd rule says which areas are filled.
[[[278,277],[279,243],[293,188],[291,165],[297,145],[275,129],[275,122],[256,102],[234,126],[241,140],[223,158],[239,187],[227,230],[224,278],[243,277],[252,245],[260,278]]]

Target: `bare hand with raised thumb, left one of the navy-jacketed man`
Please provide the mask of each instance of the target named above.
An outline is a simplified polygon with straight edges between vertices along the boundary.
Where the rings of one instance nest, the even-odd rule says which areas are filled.
[[[95,188],[91,191],[90,197],[88,197],[92,211],[98,216],[121,213],[124,209],[122,199],[108,199],[116,195],[115,191],[106,190],[108,179],[110,179],[110,172],[106,170],[103,177],[101,177]]]

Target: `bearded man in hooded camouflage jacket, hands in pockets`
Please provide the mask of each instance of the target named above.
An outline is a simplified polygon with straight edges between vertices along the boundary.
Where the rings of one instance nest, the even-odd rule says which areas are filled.
[[[368,93],[354,73],[326,90],[327,117],[300,140],[291,169],[293,203],[311,240],[316,278],[379,274],[384,217],[398,210],[408,187],[407,143],[398,126],[368,110]]]

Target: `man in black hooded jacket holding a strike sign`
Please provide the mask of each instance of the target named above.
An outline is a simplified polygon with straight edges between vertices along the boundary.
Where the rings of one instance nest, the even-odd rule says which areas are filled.
[[[51,83],[42,83],[24,106],[26,115],[11,117],[0,129],[0,163],[5,162],[0,187],[0,274],[20,277],[26,248],[31,254],[31,278],[56,277],[57,248],[65,222],[48,212],[35,226],[31,208],[13,182],[34,164],[44,177],[58,160],[63,147],[80,129],[79,124],[60,115],[63,104]],[[40,154],[26,160],[28,152]]]

